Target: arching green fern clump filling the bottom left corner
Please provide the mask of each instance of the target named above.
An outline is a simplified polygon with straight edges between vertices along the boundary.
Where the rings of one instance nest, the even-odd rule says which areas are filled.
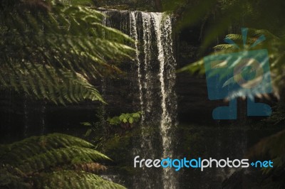
[[[124,188],[93,174],[110,160],[93,144],[66,134],[32,136],[0,146],[1,188]]]

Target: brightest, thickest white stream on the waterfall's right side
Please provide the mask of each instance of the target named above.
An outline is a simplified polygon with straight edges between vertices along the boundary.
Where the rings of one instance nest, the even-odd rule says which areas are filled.
[[[172,106],[176,106],[173,100],[176,102],[176,98],[172,98],[172,90],[175,84],[175,59],[172,54],[172,29],[171,29],[171,18],[167,16],[162,18],[161,13],[152,13],[155,18],[155,31],[157,36],[157,48],[158,48],[158,60],[160,62],[160,89],[161,89],[161,108],[162,114],[160,119],[160,130],[162,135],[162,147],[163,153],[162,158],[172,156],[172,136],[170,129],[173,126],[173,111]],[[168,60],[167,60],[168,58]],[[167,65],[170,68],[167,69]],[[165,80],[168,80],[168,86]],[[172,109],[170,111],[169,109]],[[175,107],[176,110],[176,107]],[[175,157],[172,157],[175,158]],[[173,177],[174,170],[170,168],[163,169],[163,179],[165,180],[164,188],[175,188]]]

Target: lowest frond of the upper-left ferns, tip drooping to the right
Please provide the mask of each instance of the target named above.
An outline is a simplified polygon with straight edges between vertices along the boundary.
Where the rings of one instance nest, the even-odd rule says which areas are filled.
[[[3,68],[3,67],[2,67]],[[11,72],[16,74],[11,75]],[[3,79],[0,85],[23,90],[38,99],[48,99],[56,104],[80,102],[82,99],[100,100],[103,98],[86,77],[70,70],[55,69],[43,65],[27,64],[21,68],[19,64],[0,70]],[[36,80],[36,82],[34,82]]]

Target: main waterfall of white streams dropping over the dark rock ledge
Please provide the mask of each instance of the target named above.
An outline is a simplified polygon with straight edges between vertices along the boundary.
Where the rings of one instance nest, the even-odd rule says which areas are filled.
[[[138,16],[142,18],[142,58],[140,58],[140,47],[138,47]],[[174,92],[176,62],[172,52],[171,16],[163,13],[130,12],[130,26],[130,35],[135,40],[137,50],[140,109],[144,112],[141,147],[153,151],[152,141],[145,130],[158,121],[162,138],[162,158],[174,158],[172,157],[171,129],[175,126],[177,104]],[[154,42],[155,45],[153,45]],[[152,50],[156,53],[154,54]],[[157,87],[159,90],[156,89]],[[157,100],[160,102],[160,108],[157,107]],[[148,186],[152,186],[151,181],[148,180],[148,182]],[[173,169],[163,169],[162,183],[162,188],[177,188]]]

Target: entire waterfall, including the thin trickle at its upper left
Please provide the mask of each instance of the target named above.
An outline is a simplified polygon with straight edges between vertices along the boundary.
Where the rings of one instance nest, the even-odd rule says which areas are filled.
[[[141,136],[134,144],[133,156],[175,158],[173,131],[176,126],[177,98],[174,92],[176,62],[172,50],[172,16],[142,11],[104,11],[104,23],[120,29],[135,41],[134,83],[141,110]],[[106,20],[107,19],[107,20]],[[118,26],[118,21],[120,23]],[[114,25],[114,26],[113,26]],[[158,131],[158,134],[157,134]],[[178,188],[175,171],[170,168],[142,167],[133,188]]]

